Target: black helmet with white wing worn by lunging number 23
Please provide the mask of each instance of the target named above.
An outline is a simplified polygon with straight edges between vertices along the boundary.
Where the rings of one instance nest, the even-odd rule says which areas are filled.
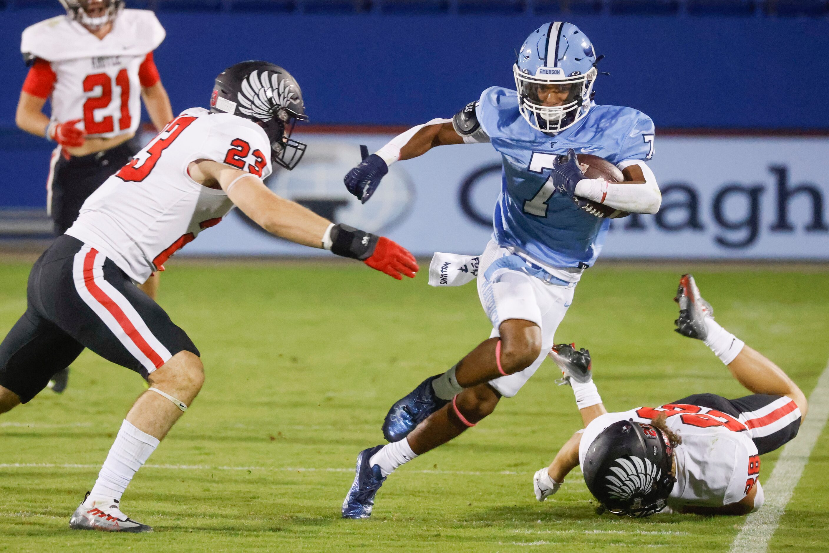
[[[268,61],[242,61],[216,77],[211,112],[251,119],[270,140],[270,159],[288,170],[297,166],[307,145],[291,138],[293,126],[308,121],[303,93],[288,71]]]

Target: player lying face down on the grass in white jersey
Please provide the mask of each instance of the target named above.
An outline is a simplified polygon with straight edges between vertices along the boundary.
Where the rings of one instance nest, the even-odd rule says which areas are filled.
[[[676,332],[705,342],[753,395],[695,394],[662,407],[608,413],[589,370],[589,353],[555,347],[585,429],[534,480],[536,498],[558,491],[581,464],[584,481],[609,512],[647,517],[669,507],[701,515],[744,515],[763,505],[759,455],[797,435],[807,412],[802,391],[778,366],[715,322],[693,277],[676,297]]]

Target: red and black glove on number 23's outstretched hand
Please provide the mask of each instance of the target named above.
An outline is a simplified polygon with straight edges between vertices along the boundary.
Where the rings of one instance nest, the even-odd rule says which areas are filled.
[[[414,279],[420,269],[409,250],[385,236],[372,235],[340,223],[332,226],[330,237],[332,253],[361,260],[371,269],[395,279],[402,280],[402,275]]]

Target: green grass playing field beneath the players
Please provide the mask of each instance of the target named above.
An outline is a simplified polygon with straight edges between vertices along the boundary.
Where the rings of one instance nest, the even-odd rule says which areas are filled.
[[[25,308],[28,270],[0,265],[3,334]],[[671,331],[680,271],[605,264],[579,284],[556,339],[589,347],[608,410],[744,394]],[[808,395],[829,358],[829,272],[693,272],[718,321]],[[200,347],[206,384],[124,495],[155,533],[68,528],[144,388],[85,352],[65,394],[0,416],[0,551],[727,551],[744,521],[597,516],[579,472],[536,502],[532,473],[580,425],[549,361],[477,428],[393,474],[370,521],[343,521],[356,454],[383,441],[390,404],[488,336],[474,285],[431,289],[425,274],[399,283],[358,264],[179,262],[160,303]],[[827,551],[827,472],[825,431],[769,551]]]

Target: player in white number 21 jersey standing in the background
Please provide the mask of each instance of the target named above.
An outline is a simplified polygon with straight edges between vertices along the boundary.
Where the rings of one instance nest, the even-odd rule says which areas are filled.
[[[172,120],[153,51],[164,29],[153,12],[124,10],[124,0],[61,0],[65,16],[23,31],[30,65],[17,103],[17,126],[57,143],[46,180],[46,210],[62,235],[87,197],[141,149],[141,99],[158,130]],[[46,99],[51,117],[43,114]],[[141,285],[155,298],[158,275]],[[51,389],[61,393],[69,369]]]

